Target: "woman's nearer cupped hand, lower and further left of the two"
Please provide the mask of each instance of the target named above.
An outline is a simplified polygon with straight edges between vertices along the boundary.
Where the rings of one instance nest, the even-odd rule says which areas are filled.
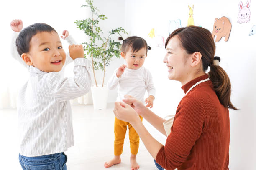
[[[115,102],[113,112],[116,118],[129,122],[131,125],[133,125],[137,120],[140,120],[136,111],[131,106],[123,102]]]

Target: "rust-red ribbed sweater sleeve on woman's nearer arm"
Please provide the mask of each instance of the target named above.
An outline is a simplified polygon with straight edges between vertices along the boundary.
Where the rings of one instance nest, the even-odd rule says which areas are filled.
[[[156,162],[166,170],[180,167],[200,137],[204,121],[205,110],[201,102],[195,97],[185,96],[177,107],[171,133],[156,155]]]

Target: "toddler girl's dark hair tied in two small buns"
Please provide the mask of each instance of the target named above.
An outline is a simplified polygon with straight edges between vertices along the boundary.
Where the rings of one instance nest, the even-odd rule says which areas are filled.
[[[141,37],[132,36],[126,38],[125,40],[122,37],[119,37],[118,40],[123,40],[123,45],[121,48],[121,51],[123,53],[126,53],[130,47],[132,49],[132,52],[138,52],[139,50],[141,50],[141,48],[145,47],[146,54],[148,53],[148,50],[151,49],[151,47],[148,46],[147,42]]]

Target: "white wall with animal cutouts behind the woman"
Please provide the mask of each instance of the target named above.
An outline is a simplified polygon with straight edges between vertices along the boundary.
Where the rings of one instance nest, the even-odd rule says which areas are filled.
[[[194,7],[195,25],[212,32],[215,18],[226,16],[232,23],[228,42],[224,38],[216,43],[215,55],[221,57],[220,66],[228,73],[232,85],[232,102],[240,110],[230,110],[230,170],[256,169],[255,147],[255,62],[256,35],[248,36],[251,27],[256,25],[256,4],[251,0],[251,21],[238,24],[239,0],[126,0],[125,29],[131,35],[145,38],[153,45],[148,52],[145,66],[151,70],[156,86],[154,112],[164,117],[175,113],[184,93],[179,82],[168,80],[167,68],[163,61],[165,49],[154,47],[148,37],[151,28],[156,35],[166,36],[169,20],[181,20],[182,27],[187,25],[189,8]],[[243,4],[246,0],[243,0]]]

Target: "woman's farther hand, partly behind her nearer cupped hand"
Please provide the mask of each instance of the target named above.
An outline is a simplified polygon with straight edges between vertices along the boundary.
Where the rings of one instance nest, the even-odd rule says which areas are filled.
[[[130,105],[139,115],[144,117],[143,113],[145,113],[145,110],[148,108],[140,100],[137,100],[130,95],[125,95],[124,97],[123,102]]]

